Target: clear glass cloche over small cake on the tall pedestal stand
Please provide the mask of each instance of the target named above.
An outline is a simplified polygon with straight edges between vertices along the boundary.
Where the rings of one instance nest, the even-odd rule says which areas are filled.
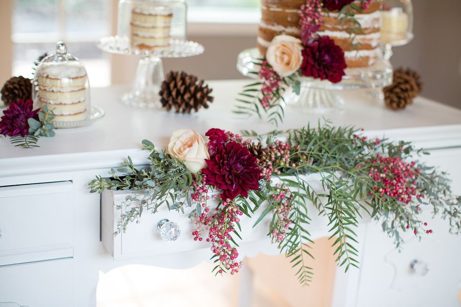
[[[167,50],[186,39],[184,0],[120,0],[117,35],[139,50]]]

